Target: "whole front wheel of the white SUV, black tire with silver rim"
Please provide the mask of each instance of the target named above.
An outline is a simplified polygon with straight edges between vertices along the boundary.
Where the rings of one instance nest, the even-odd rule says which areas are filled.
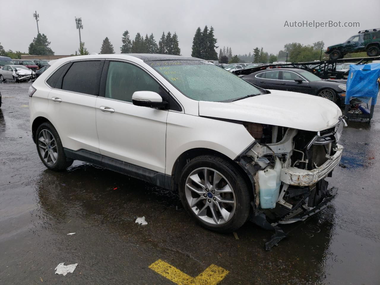
[[[205,171],[209,183],[204,183]],[[198,179],[208,186],[202,187],[196,182]],[[218,182],[213,185],[215,179]],[[179,179],[179,196],[190,216],[205,228],[223,233],[235,231],[247,221],[251,201],[249,189],[232,163],[213,155],[190,160]]]

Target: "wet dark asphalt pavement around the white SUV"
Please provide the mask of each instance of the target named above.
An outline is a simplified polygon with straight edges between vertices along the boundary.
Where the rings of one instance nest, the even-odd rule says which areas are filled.
[[[159,259],[192,277],[220,266],[220,284],[379,284],[379,106],[370,125],[344,129],[328,178],[334,202],[283,226],[288,237],[265,252],[271,232],[251,222],[239,239],[205,230],[176,193],[80,161],[47,170],[29,130],[29,86],[0,83],[0,284],[174,284],[148,267]],[[55,274],[63,262],[78,266]]]

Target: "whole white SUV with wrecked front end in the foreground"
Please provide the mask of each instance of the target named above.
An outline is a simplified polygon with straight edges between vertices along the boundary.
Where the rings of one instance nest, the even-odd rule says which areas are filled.
[[[212,230],[304,220],[336,195],[325,177],[340,161],[344,121],[324,98],[159,54],[54,60],[29,96],[47,168],[81,160],[178,191]]]

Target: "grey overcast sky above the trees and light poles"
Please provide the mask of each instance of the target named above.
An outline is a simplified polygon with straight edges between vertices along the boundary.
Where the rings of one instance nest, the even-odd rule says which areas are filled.
[[[120,52],[125,30],[131,40],[153,33],[160,39],[163,31],[177,32],[182,55],[190,55],[196,28],[215,29],[220,47],[233,54],[252,52],[256,46],[277,54],[284,44],[312,44],[323,40],[325,47],[347,40],[359,30],[380,28],[380,1],[128,1],[128,0],[18,0],[2,1],[0,43],[4,49],[22,52],[37,34],[33,13],[40,14],[40,33],[51,41],[56,55],[73,54],[79,47],[74,17],[82,17],[82,41],[89,52],[99,53],[108,36],[116,53]],[[14,2],[16,3],[16,2]],[[4,6],[5,5],[5,6]],[[6,6],[8,8],[6,8]],[[285,21],[360,22],[359,28],[291,28]],[[219,49],[217,49],[219,53]]]

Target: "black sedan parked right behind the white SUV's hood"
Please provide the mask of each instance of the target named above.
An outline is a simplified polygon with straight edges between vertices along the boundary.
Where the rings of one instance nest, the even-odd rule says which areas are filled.
[[[340,105],[346,96],[346,84],[322,80],[309,71],[298,68],[260,70],[242,78],[263,89],[306,93],[326,98]]]

